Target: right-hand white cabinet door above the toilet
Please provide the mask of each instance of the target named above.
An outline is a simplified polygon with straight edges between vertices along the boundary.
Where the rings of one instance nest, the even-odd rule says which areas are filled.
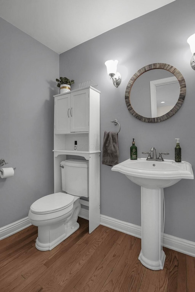
[[[89,131],[89,90],[71,93],[70,132]]]

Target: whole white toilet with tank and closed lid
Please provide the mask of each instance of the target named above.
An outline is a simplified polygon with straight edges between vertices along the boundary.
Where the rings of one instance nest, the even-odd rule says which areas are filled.
[[[38,226],[35,247],[51,250],[79,228],[80,197],[89,196],[87,160],[67,159],[60,163],[62,191],[44,196],[30,206],[30,223]]]

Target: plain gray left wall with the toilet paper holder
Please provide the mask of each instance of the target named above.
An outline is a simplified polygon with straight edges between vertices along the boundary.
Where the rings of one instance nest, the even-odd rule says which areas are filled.
[[[0,178],[0,227],[53,193],[54,94],[59,54],[0,18],[0,158],[16,167]]]

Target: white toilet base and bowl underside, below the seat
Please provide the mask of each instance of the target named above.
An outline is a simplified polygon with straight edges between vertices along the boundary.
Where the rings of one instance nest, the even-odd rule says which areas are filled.
[[[38,237],[35,247],[41,251],[51,250],[73,234],[79,228],[79,223],[76,221],[80,208],[81,205],[79,200],[76,200],[73,204],[73,210],[70,212],[70,216],[64,221],[46,226],[38,226]]]

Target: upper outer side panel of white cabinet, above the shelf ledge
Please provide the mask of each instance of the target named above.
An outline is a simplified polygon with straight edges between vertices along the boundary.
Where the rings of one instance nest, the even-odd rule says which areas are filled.
[[[90,89],[89,151],[100,151],[100,94]]]

